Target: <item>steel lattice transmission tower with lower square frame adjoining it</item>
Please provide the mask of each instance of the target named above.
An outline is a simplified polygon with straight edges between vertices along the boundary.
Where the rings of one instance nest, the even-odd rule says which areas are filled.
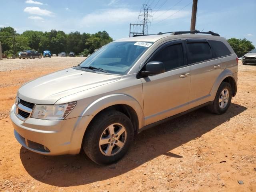
[[[148,23],[151,23],[149,21],[150,17],[153,17],[152,15],[148,14],[148,10],[151,10],[150,5],[148,4],[143,4],[143,7],[140,9],[144,11],[144,14],[140,14],[139,18],[142,18],[142,20],[140,21],[142,24],[131,24],[130,23],[130,36],[132,35],[147,35],[148,34]],[[138,26],[142,26],[142,31],[141,32],[131,32],[131,26],[134,27],[136,26],[136,29]]]

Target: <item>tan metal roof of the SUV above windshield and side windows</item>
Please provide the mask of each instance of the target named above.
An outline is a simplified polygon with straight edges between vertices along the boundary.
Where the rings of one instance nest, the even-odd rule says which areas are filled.
[[[203,35],[203,34],[160,34],[160,35],[144,35],[144,36],[136,36],[130,38],[123,38],[116,40],[115,42],[123,42],[123,41],[144,41],[144,42],[156,42],[162,38],[176,39],[176,38],[206,38],[211,40],[220,40],[225,39],[220,36],[214,35]]]

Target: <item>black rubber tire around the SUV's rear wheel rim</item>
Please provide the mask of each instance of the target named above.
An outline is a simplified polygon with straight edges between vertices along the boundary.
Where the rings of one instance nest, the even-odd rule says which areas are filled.
[[[228,102],[226,104],[226,106],[224,108],[220,107],[220,96],[223,90],[227,89],[229,92],[229,96],[228,96]],[[232,100],[232,88],[230,86],[230,84],[228,82],[222,82],[218,88],[218,91],[216,93],[215,99],[213,101],[213,103],[211,105],[208,106],[208,109],[210,110],[210,112],[215,113],[215,114],[223,114],[224,112],[226,112],[230,106]]]

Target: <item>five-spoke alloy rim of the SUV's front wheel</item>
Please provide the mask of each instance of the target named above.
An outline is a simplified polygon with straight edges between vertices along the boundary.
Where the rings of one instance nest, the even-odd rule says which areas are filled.
[[[114,123],[109,125],[100,136],[100,152],[104,156],[118,154],[124,147],[126,137],[126,128],[122,124]]]

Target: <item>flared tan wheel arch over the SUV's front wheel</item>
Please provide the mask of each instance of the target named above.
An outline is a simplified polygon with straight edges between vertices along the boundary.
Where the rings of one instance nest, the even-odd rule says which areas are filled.
[[[117,104],[125,104],[132,107],[138,116],[139,129],[144,126],[144,114],[140,103],[132,96],[126,94],[110,94],[101,97],[89,104],[80,116],[96,116],[103,109]]]

